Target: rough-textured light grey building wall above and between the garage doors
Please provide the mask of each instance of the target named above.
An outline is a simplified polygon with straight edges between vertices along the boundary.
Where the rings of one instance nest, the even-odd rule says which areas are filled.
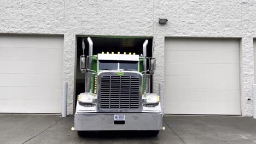
[[[0,0],[0,33],[64,34],[63,80],[73,111],[75,35],[154,37],[155,91],[164,82],[165,37],[241,39],[242,115],[252,116],[254,0]],[[166,25],[159,25],[166,17]]]

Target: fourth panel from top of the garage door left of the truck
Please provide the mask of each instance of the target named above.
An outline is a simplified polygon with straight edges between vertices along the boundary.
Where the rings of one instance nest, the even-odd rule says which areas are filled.
[[[61,87],[58,74],[0,74],[0,86],[5,87]]]

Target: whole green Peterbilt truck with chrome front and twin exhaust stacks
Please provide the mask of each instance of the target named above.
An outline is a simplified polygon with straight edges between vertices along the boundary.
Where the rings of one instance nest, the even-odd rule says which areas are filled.
[[[88,131],[139,130],[156,136],[162,129],[160,96],[150,93],[150,77],[155,71],[154,57],[147,57],[148,40],[143,54],[102,52],[93,55],[88,37],[89,55],[80,56],[85,74],[85,92],[77,97],[74,129],[79,136]]]

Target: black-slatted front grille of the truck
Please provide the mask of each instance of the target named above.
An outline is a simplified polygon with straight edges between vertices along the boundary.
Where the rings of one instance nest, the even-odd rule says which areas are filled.
[[[100,109],[139,109],[139,77],[102,76]]]

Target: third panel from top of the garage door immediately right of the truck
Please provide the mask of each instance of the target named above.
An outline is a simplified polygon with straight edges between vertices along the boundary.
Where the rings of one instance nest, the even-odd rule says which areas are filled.
[[[238,64],[194,64],[194,63],[166,63],[166,75],[230,75],[239,76]]]

